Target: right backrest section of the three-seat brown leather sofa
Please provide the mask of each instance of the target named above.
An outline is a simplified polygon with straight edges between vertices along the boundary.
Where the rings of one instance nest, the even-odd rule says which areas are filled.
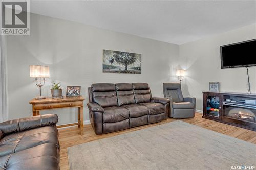
[[[135,103],[150,102],[151,92],[147,83],[133,83]]]

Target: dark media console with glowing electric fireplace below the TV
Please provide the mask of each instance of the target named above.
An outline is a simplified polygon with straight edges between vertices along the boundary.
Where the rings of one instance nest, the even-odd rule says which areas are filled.
[[[256,131],[256,94],[203,92],[203,118]]]

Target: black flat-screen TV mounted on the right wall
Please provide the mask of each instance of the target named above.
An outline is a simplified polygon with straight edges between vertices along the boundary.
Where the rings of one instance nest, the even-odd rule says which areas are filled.
[[[221,46],[221,68],[256,66],[256,39]]]

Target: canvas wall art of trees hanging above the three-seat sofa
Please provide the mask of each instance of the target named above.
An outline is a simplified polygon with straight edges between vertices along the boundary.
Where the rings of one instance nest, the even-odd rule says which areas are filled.
[[[141,73],[141,54],[103,50],[103,72]]]

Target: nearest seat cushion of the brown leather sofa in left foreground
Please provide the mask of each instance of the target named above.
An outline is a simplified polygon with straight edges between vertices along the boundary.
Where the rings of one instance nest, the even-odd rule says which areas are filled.
[[[59,169],[58,158],[59,151],[56,145],[53,143],[44,143],[0,157],[0,169]]]

